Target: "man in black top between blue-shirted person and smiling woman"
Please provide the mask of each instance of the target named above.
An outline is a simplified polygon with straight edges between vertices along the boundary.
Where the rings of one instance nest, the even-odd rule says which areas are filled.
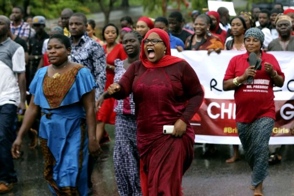
[[[174,11],[169,16],[170,33],[172,33],[173,36],[180,38],[185,43],[186,39],[192,34],[182,29],[183,21],[183,15],[181,12]]]

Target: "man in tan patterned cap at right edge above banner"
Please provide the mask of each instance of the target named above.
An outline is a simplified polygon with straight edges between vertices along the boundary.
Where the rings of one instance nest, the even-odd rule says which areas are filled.
[[[272,40],[269,44],[269,51],[294,51],[294,36],[291,35],[292,21],[287,15],[276,17],[276,28],[279,37]]]

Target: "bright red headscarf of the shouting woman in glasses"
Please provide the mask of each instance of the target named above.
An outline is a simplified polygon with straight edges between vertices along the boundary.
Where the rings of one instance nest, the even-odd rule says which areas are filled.
[[[145,67],[147,67],[147,68],[166,67],[166,66],[172,65],[174,63],[180,62],[180,61],[185,61],[184,59],[181,59],[181,58],[178,58],[178,57],[171,55],[170,36],[166,31],[159,29],[159,28],[153,28],[146,33],[144,39],[146,39],[150,35],[150,33],[153,33],[153,32],[157,33],[159,35],[159,37],[162,39],[163,43],[167,47],[167,50],[166,50],[166,54],[164,57],[162,57],[156,63],[151,63],[147,59],[147,56],[144,51],[144,43],[142,41],[140,60],[142,61],[143,65]]]

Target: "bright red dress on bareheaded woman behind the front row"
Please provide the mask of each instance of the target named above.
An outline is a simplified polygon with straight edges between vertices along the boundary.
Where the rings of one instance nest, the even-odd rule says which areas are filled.
[[[122,44],[117,44],[110,53],[107,53],[106,45],[103,46],[106,54],[106,63],[114,66],[114,61],[116,59],[124,60],[127,58],[127,55],[123,49]],[[114,72],[112,70],[106,69],[106,83],[105,83],[105,91],[113,83]],[[99,111],[97,112],[97,121],[101,121],[103,123],[114,124],[115,123],[115,115],[116,113],[113,111],[114,98],[105,99],[102,103]]]

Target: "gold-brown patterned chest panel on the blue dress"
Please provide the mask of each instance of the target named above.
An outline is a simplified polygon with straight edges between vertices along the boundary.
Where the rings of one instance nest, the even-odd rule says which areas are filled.
[[[51,108],[60,106],[62,100],[73,86],[76,74],[83,67],[83,65],[77,65],[69,72],[62,73],[55,78],[49,77],[48,74],[45,75],[43,92]]]

